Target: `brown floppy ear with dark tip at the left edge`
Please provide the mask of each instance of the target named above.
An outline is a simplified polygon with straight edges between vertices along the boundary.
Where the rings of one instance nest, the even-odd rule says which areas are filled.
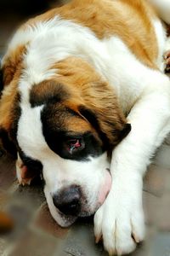
[[[20,116],[18,107],[20,95],[17,84],[25,51],[26,46],[20,45],[10,53],[10,56],[3,58],[3,67],[0,67],[0,146],[14,157],[17,156],[17,149],[12,139],[14,126],[17,126],[14,119]]]

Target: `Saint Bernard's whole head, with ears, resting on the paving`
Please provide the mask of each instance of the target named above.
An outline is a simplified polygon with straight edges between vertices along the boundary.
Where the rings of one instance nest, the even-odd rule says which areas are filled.
[[[50,212],[67,226],[105,201],[108,154],[130,125],[114,91],[88,63],[67,59],[54,70],[57,75],[33,84],[23,71],[6,86],[0,126],[3,146],[35,172],[42,168]]]

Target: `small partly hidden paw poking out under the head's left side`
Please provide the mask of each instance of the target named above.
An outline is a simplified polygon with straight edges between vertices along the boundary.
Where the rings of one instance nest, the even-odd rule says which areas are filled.
[[[19,183],[22,184],[23,186],[30,185],[32,179],[35,177],[28,170],[27,166],[24,165],[22,160],[20,160],[20,158],[16,160],[16,176],[18,178]]]

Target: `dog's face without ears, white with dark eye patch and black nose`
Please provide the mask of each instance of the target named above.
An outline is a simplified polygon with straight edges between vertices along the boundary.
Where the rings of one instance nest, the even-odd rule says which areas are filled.
[[[104,143],[81,113],[64,102],[23,108],[17,143],[30,169],[42,166],[48,205],[56,207],[59,224],[91,215],[103,203],[111,187],[109,162]],[[69,220],[63,223],[64,215]]]

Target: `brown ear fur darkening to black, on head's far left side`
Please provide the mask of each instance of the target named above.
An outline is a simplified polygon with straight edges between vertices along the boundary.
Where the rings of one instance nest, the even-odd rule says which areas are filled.
[[[16,62],[16,64],[18,63],[18,67],[14,68],[14,63],[9,60],[10,58],[5,62],[6,65],[3,66],[4,82],[6,84],[0,99],[0,131],[3,131],[2,136],[4,134],[5,137],[0,138],[0,143],[7,151],[16,156],[15,146],[12,141],[15,137],[16,125],[20,115],[18,83],[22,65],[20,61]],[[11,67],[9,63],[11,63]]]

